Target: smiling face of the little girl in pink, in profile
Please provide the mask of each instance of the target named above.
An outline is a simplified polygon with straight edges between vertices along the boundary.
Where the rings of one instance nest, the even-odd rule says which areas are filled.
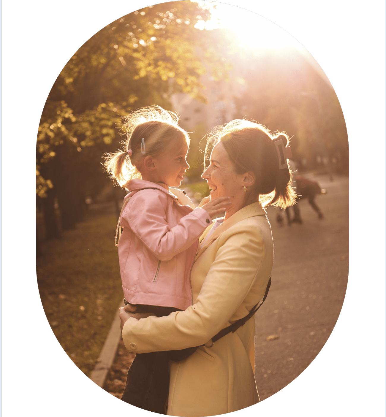
[[[184,140],[173,148],[171,151],[165,151],[154,158],[155,166],[154,174],[156,181],[167,184],[171,187],[179,187],[184,179],[183,175],[189,168],[186,161],[188,154],[188,144]]]

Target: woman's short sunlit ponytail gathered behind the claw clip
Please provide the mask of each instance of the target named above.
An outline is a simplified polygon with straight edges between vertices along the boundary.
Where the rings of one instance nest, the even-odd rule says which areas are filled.
[[[272,145],[275,146],[274,142],[282,140],[284,146],[289,144],[289,138],[285,133],[280,133],[272,140]],[[275,152],[277,152],[275,147]],[[270,206],[277,206],[281,208],[287,208],[293,206],[296,202],[296,193],[292,187],[292,176],[293,173],[288,168],[287,158],[285,159],[286,167],[279,169],[280,156],[278,155],[278,173],[275,181],[275,195],[272,200],[268,203]]]

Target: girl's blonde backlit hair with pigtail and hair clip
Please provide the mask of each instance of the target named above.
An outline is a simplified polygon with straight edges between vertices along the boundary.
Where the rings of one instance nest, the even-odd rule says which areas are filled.
[[[159,106],[144,107],[126,116],[121,131],[126,136],[121,142],[124,149],[104,157],[103,166],[110,177],[121,187],[127,188],[132,179],[142,178],[137,166],[141,165],[146,156],[172,151],[183,141],[189,146],[189,135],[178,126],[178,120],[176,113]],[[127,153],[129,149],[132,151],[131,156]]]

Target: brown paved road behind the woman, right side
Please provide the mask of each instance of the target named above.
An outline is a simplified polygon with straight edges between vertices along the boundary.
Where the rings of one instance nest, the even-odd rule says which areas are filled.
[[[275,209],[267,209],[275,259],[270,292],[256,314],[260,400],[288,385],[313,361],[335,326],[346,293],[348,177],[333,182],[328,176],[308,178],[328,191],[316,198],[325,219],[301,201],[303,224],[280,227]]]

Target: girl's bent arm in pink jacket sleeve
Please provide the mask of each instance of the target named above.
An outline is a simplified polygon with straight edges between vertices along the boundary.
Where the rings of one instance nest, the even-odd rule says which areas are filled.
[[[208,212],[196,208],[170,227],[166,222],[167,198],[165,193],[153,189],[141,190],[131,197],[121,216],[121,224],[129,226],[161,261],[168,261],[188,249],[212,224]]]

